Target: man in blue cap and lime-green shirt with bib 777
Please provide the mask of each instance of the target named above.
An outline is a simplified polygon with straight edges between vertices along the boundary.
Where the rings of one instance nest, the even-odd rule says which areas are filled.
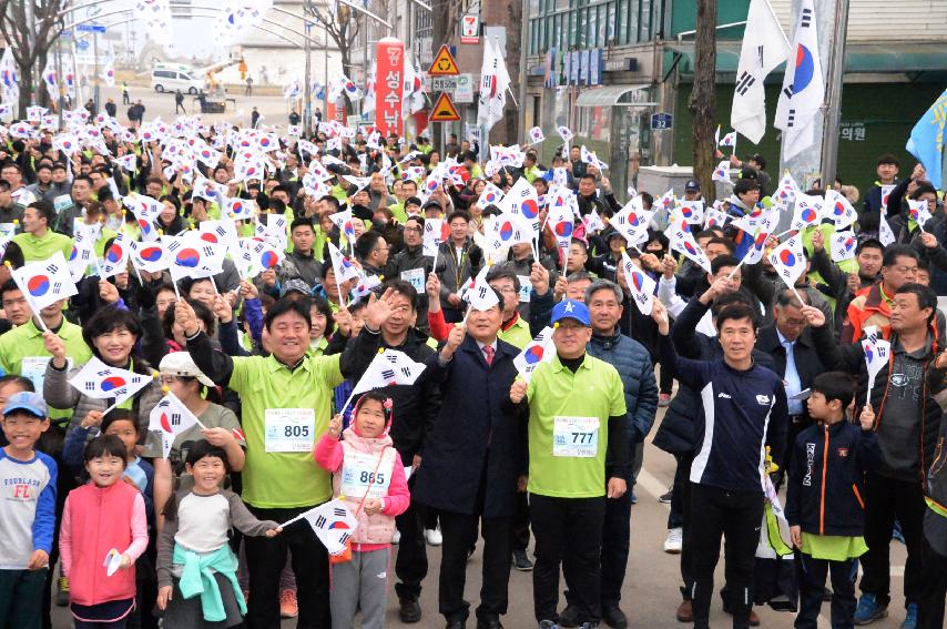
[[[585,304],[558,303],[552,325],[556,356],[510,388],[513,404],[529,403],[533,606],[540,629],[558,625],[562,564],[580,627],[597,627],[605,497],[621,497],[629,475],[628,448],[609,448],[627,442],[624,388],[613,366],[585,354]]]

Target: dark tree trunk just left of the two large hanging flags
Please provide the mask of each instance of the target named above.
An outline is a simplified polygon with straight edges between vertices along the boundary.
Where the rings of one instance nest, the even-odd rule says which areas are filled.
[[[716,120],[716,0],[697,0],[694,39],[694,89],[688,102],[693,116],[692,138],[694,177],[704,195],[714,197],[711,179],[714,164],[713,130]]]

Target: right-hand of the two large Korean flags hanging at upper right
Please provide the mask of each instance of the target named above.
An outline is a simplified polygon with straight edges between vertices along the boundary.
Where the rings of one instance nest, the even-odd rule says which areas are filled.
[[[788,59],[774,123],[783,131],[783,161],[813,145],[815,119],[825,101],[813,0],[802,0]]]

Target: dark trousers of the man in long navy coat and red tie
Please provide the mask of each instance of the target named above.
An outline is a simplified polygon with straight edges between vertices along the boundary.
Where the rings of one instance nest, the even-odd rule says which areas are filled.
[[[440,534],[440,577],[438,609],[448,622],[466,620],[470,603],[464,600],[467,584],[467,551],[476,540],[477,527],[483,536],[483,581],[477,618],[497,620],[507,612],[510,582],[511,518],[481,518],[479,515],[438,511]],[[404,539],[404,537],[401,538]]]

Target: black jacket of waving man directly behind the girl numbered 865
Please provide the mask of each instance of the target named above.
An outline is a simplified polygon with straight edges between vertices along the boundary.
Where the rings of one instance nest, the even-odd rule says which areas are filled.
[[[367,327],[354,339],[348,342],[349,349],[354,355],[352,367],[352,379],[358,378],[371,364],[371,359],[379,348],[397,349],[404,352],[411,361],[424,363],[435,354],[427,344],[427,335],[411,328],[405,342],[393,347],[385,343],[380,332],[371,333]],[[347,351],[348,353],[348,351]],[[389,386],[385,392],[395,404],[395,413],[391,419],[391,440],[395,449],[401,455],[405,465],[410,465],[415,455],[421,454],[425,439],[437,422],[440,413],[440,390],[436,383],[429,379],[428,374],[421,373],[414,385]]]

